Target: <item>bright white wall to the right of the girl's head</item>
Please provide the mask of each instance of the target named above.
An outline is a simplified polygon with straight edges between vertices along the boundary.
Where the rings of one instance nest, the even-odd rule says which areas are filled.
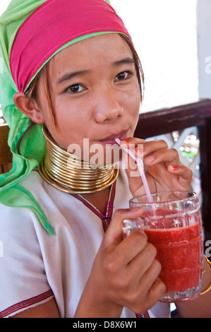
[[[143,64],[141,112],[198,100],[196,1],[111,0]]]

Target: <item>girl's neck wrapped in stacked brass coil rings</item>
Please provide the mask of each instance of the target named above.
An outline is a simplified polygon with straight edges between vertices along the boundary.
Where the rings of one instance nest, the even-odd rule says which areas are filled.
[[[109,187],[115,182],[119,170],[114,165],[93,168],[89,162],[79,160],[58,146],[45,127],[43,132],[47,149],[38,166],[40,175],[61,191],[86,196],[89,194],[90,203],[95,201],[95,204],[100,206],[101,199],[104,206],[103,202],[107,201],[109,196]],[[101,198],[97,197],[98,194]]]

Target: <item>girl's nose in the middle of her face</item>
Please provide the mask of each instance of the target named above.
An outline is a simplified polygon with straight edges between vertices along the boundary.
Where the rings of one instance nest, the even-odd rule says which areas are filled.
[[[114,121],[123,114],[121,98],[114,88],[101,90],[97,94],[95,101],[95,120],[99,123]]]

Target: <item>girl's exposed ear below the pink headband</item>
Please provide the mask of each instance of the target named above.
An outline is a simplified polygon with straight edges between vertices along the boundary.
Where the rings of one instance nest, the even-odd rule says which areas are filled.
[[[28,100],[27,97],[25,97],[24,93],[15,93],[13,96],[14,103],[20,111],[30,117],[32,121],[34,121],[36,124],[43,124],[44,118],[42,111],[40,110],[40,107],[38,107],[35,100]]]

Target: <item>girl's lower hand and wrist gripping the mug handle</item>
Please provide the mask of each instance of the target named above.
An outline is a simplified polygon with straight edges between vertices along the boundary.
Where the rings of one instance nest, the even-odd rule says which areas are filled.
[[[164,294],[158,278],[156,249],[141,230],[123,239],[122,222],[138,218],[140,209],[114,213],[80,298],[76,317],[119,317],[123,307],[140,314]]]

